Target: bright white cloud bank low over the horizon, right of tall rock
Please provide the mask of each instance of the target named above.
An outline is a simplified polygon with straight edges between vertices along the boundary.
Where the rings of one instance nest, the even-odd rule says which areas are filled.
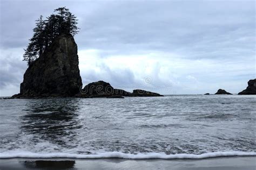
[[[127,55],[102,54],[104,51],[97,49],[78,52],[84,84],[104,80],[113,86],[154,88],[166,94],[214,93],[218,88],[237,93],[240,87],[233,80],[234,75],[253,74],[254,69],[253,65],[248,65],[254,62],[250,57],[237,63],[229,60],[184,59],[179,54],[161,51]],[[150,84],[145,82],[147,78],[150,78]],[[122,80],[126,80],[127,84]],[[235,83],[227,86],[227,82]]]

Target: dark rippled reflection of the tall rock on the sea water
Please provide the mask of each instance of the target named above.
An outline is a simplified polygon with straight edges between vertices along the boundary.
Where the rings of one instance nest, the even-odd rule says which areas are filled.
[[[26,104],[26,115],[22,116],[21,131],[33,134],[33,142],[49,141],[65,145],[63,138],[72,140],[73,130],[82,128],[79,124],[76,98],[52,98],[35,100]]]

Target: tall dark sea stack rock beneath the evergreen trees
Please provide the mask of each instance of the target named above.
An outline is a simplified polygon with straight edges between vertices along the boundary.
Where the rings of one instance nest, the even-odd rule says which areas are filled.
[[[26,69],[20,93],[13,97],[68,97],[80,87],[77,45],[71,34],[62,33]]]

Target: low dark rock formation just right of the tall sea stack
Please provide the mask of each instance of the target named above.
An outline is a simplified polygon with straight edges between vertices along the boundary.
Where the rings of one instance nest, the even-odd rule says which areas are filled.
[[[107,98],[123,98],[128,97],[149,97],[149,96],[163,96],[158,93],[152,93],[145,90],[133,90],[133,93],[122,89],[114,89],[110,83],[104,81],[97,81],[87,84],[76,97],[92,98],[92,97],[107,97]]]

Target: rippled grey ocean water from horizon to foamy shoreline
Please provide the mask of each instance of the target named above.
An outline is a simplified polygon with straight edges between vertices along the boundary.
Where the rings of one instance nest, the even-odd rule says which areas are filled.
[[[256,155],[256,96],[0,100],[0,158]]]

